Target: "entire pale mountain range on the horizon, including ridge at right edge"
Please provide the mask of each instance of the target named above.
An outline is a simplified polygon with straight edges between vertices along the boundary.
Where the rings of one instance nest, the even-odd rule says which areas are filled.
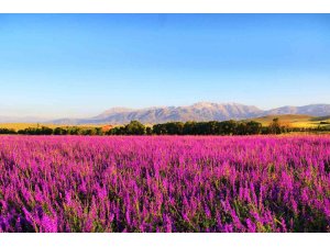
[[[330,104],[310,104],[305,106],[284,106],[263,111],[253,105],[239,103],[199,102],[188,106],[158,106],[146,109],[112,108],[90,119],[61,119],[55,124],[125,124],[138,120],[144,124],[172,121],[224,121],[243,120],[264,115],[305,114],[322,116],[330,114]]]

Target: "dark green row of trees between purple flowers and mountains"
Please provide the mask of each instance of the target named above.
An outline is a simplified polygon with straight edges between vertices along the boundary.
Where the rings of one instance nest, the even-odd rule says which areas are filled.
[[[102,127],[66,126],[51,128],[47,126],[28,127],[15,131],[13,128],[0,128],[0,134],[20,135],[258,135],[282,134],[287,132],[322,132],[330,131],[329,127],[301,128],[289,127],[274,119],[268,126],[263,126],[255,121],[209,121],[209,122],[168,122],[145,126],[139,121],[116,126],[108,131]]]

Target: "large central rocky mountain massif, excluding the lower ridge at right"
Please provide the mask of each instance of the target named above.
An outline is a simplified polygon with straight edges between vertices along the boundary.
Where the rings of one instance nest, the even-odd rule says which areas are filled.
[[[160,106],[146,109],[110,109],[100,115],[90,119],[62,119],[52,121],[56,124],[124,124],[132,120],[142,123],[164,123],[170,121],[223,121],[228,119],[246,119],[257,116],[263,111],[256,106],[238,103],[199,102],[189,106]]]

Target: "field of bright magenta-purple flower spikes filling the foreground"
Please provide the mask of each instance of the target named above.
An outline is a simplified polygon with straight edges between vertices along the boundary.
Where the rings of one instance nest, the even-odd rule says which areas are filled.
[[[0,232],[330,232],[330,136],[1,136]]]

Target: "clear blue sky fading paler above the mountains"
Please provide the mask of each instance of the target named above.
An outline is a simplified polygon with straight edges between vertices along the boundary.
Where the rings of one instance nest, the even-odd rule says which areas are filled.
[[[330,103],[330,14],[0,14],[0,115]]]

